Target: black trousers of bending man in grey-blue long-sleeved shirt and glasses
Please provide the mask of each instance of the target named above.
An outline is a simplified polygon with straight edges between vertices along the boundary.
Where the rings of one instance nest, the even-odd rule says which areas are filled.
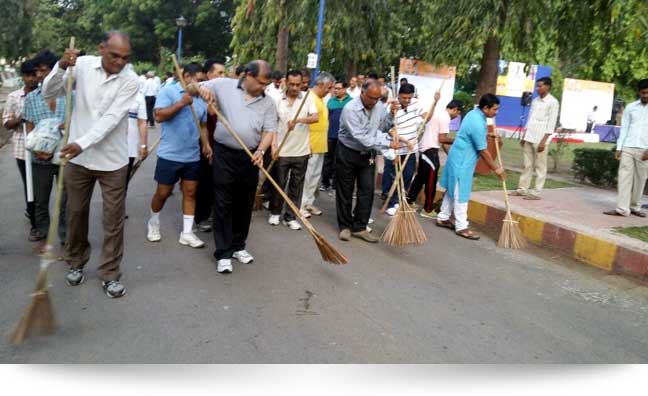
[[[373,153],[351,150],[338,142],[335,158],[335,208],[340,230],[367,229],[373,205],[375,164]],[[357,185],[353,207],[353,190]]]

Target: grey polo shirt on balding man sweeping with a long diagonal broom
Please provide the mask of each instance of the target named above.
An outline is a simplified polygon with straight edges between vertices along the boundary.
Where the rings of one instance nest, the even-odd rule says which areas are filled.
[[[242,82],[243,80],[232,78],[216,78],[202,83],[202,86],[216,96],[223,116],[247,148],[253,150],[261,143],[263,132],[277,131],[277,106],[265,94],[246,100]],[[241,150],[241,146],[220,120],[214,130],[214,141],[231,149]]]

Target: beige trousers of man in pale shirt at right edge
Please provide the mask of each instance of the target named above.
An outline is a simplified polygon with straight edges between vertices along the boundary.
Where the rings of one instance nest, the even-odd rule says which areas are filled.
[[[641,210],[641,196],[648,177],[648,161],[641,157],[646,150],[639,148],[623,148],[619,164],[619,196],[617,212],[630,215],[630,211]]]

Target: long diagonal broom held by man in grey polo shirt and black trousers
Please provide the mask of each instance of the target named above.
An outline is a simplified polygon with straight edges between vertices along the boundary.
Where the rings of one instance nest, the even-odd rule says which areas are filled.
[[[179,72],[180,68],[178,66],[178,62],[176,61],[175,57],[173,57],[173,62],[176,67],[176,73]],[[184,79],[182,78],[182,75],[178,73],[178,78],[183,85],[185,86]],[[223,113],[218,110],[216,105],[214,103],[207,103],[209,106],[210,110],[216,114],[218,117],[218,122],[222,123],[227,132],[238,142],[238,144],[241,146],[241,148],[245,151],[245,153],[250,157],[250,159],[254,158],[254,155],[250,152],[250,150],[247,148],[243,140],[239,137],[239,135],[234,131],[230,123],[227,121]],[[265,175],[265,177],[268,179],[270,184],[277,190],[277,192],[281,195],[281,197],[286,201],[286,204],[290,207],[290,209],[295,213],[295,216],[297,216],[301,222],[304,224],[304,227],[306,227],[306,230],[311,234],[313,239],[315,240],[315,244],[317,245],[317,248],[320,251],[320,254],[322,255],[322,259],[326,262],[332,263],[332,264],[346,264],[349,262],[349,260],[340,252],[338,252],[333,245],[331,245],[324,237],[318,233],[315,230],[315,227],[308,221],[304,215],[302,215],[301,211],[299,208],[295,205],[295,203],[286,195],[284,192],[283,188],[277,184],[277,182],[270,176],[268,171],[263,168],[261,168],[261,172]]]

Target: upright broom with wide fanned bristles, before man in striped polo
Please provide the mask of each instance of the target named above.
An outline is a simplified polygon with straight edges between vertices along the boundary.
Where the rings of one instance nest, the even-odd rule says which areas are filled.
[[[396,98],[396,81],[395,81],[395,69],[394,66],[391,67],[391,79],[392,79],[392,92],[394,98]],[[395,136],[394,141],[398,141],[398,129],[394,126]],[[400,150],[399,150],[400,151]],[[409,158],[409,155],[406,157]],[[405,160],[407,161],[407,159]],[[407,162],[405,162],[407,164]],[[421,245],[427,241],[425,236],[425,231],[421,227],[416,218],[416,211],[407,202],[407,199],[403,197],[405,192],[405,182],[403,181],[402,173],[402,164],[400,161],[400,153],[396,154],[394,160],[394,166],[396,169],[397,176],[394,180],[394,184],[397,184],[398,191],[398,211],[392,217],[391,221],[385,228],[381,239],[383,242],[390,246],[407,246],[407,245]],[[387,201],[389,203],[389,201]]]

